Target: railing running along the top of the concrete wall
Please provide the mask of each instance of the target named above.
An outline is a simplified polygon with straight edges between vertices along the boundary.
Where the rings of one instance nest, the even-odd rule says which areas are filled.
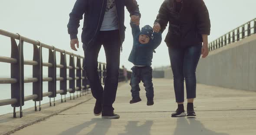
[[[210,42],[208,44],[209,51],[240,41],[253,34],[256,34],[256,18]]]

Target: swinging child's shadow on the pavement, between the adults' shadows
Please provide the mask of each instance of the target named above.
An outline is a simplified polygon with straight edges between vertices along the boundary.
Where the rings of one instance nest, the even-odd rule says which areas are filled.
[[[143,125],[138,126],[138,121],[129,121],[125,126],[125,133],[118,135],[150,135],[153,121],[146,121]]]

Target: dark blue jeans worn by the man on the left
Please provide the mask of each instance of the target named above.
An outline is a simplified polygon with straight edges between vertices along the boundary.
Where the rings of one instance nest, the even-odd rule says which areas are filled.
[[[106,78],[104,90],[98,75],[98,53],[104,47],[106,55]],[[85,71],[90,82],[92,96],[102,103],[102,112],[113,113],[118,87],[121,41],[119,30],[100,31],[95,43],[83,46],[85,53]]]

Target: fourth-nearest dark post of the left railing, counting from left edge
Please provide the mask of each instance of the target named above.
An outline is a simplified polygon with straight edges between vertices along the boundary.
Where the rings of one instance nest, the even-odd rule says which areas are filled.
[[[64,95],[64,102],[66,102],[66,94],[67,94],[67,61],[66,61],[66,51],[60,53],[60,64],[63,65],[63,68],[60,68],[60,77],[63,77],[63,80],[60,81],[60,90],[63,90],[63,93],[60,95]],[[63,100],[61,100],[63,102]]]

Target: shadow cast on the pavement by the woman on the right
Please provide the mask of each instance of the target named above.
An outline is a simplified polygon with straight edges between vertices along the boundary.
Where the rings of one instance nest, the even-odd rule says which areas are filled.
[[[177,118],[177,127],[174,135],[229,135],[227,133],[217,133],[206,129],[196,118]]]

